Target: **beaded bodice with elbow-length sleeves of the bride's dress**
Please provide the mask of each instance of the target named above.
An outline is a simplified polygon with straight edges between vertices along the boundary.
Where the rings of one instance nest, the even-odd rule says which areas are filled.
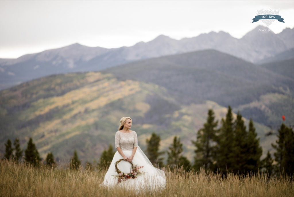
[[[115,148],[121,147],[121,150],[133,150],[138,147],[138,137],[135,131],[131,133],[122,133],[120,131],[115,134]]]

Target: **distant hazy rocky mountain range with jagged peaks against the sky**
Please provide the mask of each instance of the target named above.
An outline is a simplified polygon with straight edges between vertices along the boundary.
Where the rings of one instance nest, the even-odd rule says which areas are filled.
[[[266,31],[260,32],[260,29]],[[0,90],[52,74],[100,71],[128,62],[204,49],[216,49],[251,63],[264,63],[287,51],[293,57],[293,37],[293,28],[274,34],[258,26],[240,39],[220,31],[181,40],[160,35],[150,42],[113,49],[76,43],[17,59],[0,59]]]

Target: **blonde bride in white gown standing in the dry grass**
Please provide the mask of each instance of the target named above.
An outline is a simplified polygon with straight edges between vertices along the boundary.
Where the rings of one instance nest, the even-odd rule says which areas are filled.
[[[115,135],[116,153],[105,174],[103,186],[113,187],[121,186],[127,189],[134,188],[138,190],[161,190],[166,186],[166,177],[163,170],[154,168],[149,159],[138,146],[137,133],[130,130],[132,119],[130,117],[122,117],[120,126]],[[119,161],[121,160],[121,161]],[[118,178],[122,173],[131,173],[132,165],[137,165],[140,172],[133,177],[128,177],[125,181]],[[121,172],[121,173],[119,173]]]

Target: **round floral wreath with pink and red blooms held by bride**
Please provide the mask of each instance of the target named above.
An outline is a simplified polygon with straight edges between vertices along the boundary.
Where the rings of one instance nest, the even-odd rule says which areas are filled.
[[[118,175],[112,175],[114,177],[117,177],[117,183],[120,183],[121,181],[126,181],[129,178],[137,178],[137,176],[144,174],[145,172],[141,172],[139,169],[143,168],[144,166],[137,166],[137,165],[133,165],[132,162],[131,163],[131,170],[129,173],[123,173],[121,172],[121,170],[118,169],[117,164],[119,162],[121,162],[123,159],[120,159],[118,161],[116,161],[115,163],[115,171],[118,173]]]

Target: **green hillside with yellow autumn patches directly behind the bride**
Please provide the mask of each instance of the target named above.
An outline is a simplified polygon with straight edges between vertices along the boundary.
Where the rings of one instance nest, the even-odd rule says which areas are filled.
[[[154,83],[121,81],[100,72],[52,75],[0,92],[0,150],[3,154],[8,138],[20,138],[26,148],[32,137],[43,158],[52,152],[57,160],[68,162],[76,149],[83,163],[92,162],[114,145],[119,119],[131,116],[143,150],[152,132],[161,136],[162,150],[178,135],[192,160],[191,139],[196,139],[210,108],[218,120],[225,116],[226,107],[216,102],[181,104]],[[268,128],[255,126],[268,148],[274,140],[264,138]]]

